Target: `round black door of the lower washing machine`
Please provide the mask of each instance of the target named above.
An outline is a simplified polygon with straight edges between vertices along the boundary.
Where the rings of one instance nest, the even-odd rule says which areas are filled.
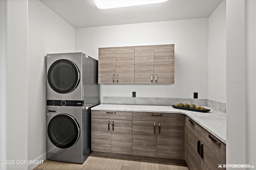
[[[80,136],[80,127],[76,119],[64,113],[54,116],[47,128],[52,144],[62,149],[75,145]]]

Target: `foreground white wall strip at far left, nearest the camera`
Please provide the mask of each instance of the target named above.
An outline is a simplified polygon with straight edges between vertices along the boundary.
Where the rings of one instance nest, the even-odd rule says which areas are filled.
[[[27,164],[17,164],[16,160],[28,158],[28,2],[15,0],[6,4],[5,149],[6,160],[15,162],[4,168],[25,170]]]

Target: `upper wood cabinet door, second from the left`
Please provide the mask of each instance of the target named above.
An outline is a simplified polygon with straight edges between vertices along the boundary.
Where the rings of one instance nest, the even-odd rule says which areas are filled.
[[[134,84],[134,47],[116,47],[116,83]]]

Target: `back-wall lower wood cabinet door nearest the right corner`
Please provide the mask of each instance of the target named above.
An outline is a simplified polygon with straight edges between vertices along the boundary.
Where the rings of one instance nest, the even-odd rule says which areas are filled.
[[[157,156],[183,159],[184,123],[157,122]]]

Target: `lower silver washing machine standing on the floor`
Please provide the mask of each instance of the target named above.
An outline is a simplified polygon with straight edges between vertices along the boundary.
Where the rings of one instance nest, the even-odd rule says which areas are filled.
[[[47,106],[47,159],[83,163],[90,154],[90,108]]]

